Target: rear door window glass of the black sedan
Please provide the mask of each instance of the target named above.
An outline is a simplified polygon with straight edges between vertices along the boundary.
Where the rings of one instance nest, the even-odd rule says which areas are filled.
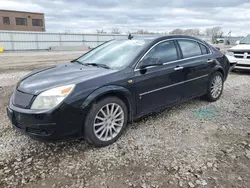
[[[200,45],[195,41],[178,40],[183,58],[202,55]]]

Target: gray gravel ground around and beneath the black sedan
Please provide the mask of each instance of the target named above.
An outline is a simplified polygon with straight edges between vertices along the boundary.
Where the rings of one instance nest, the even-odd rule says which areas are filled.
[[[94,148],[83,140],[42,143],[12,129],[5,108],[28,70],[24,63],[0,72],[0,187],[250,187],[249,73],[230,74],[215,103],[179,104]]]

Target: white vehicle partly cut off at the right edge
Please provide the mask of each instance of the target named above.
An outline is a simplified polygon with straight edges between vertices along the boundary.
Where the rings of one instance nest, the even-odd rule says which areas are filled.
[[[250,70],[250,35],[237,41],[237,45],[226,51],[230,62],[237,62],[234,69]]]

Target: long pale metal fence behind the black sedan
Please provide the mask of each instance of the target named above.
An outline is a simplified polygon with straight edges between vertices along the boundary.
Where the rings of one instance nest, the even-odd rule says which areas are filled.
[[[49,50],[58,46],[94,48],[108,40],[123,38],[127,38],[127,35],[0,31],[0,46],[5,51]],[[211,42],[211,37],[198,38]]]

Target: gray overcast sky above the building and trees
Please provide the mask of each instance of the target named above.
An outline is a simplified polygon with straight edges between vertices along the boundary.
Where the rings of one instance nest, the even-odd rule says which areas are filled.
[[[1,0],[0,9],[43,12],[48,32],[221,26],[233,35],[250,33],[250,0]]]

